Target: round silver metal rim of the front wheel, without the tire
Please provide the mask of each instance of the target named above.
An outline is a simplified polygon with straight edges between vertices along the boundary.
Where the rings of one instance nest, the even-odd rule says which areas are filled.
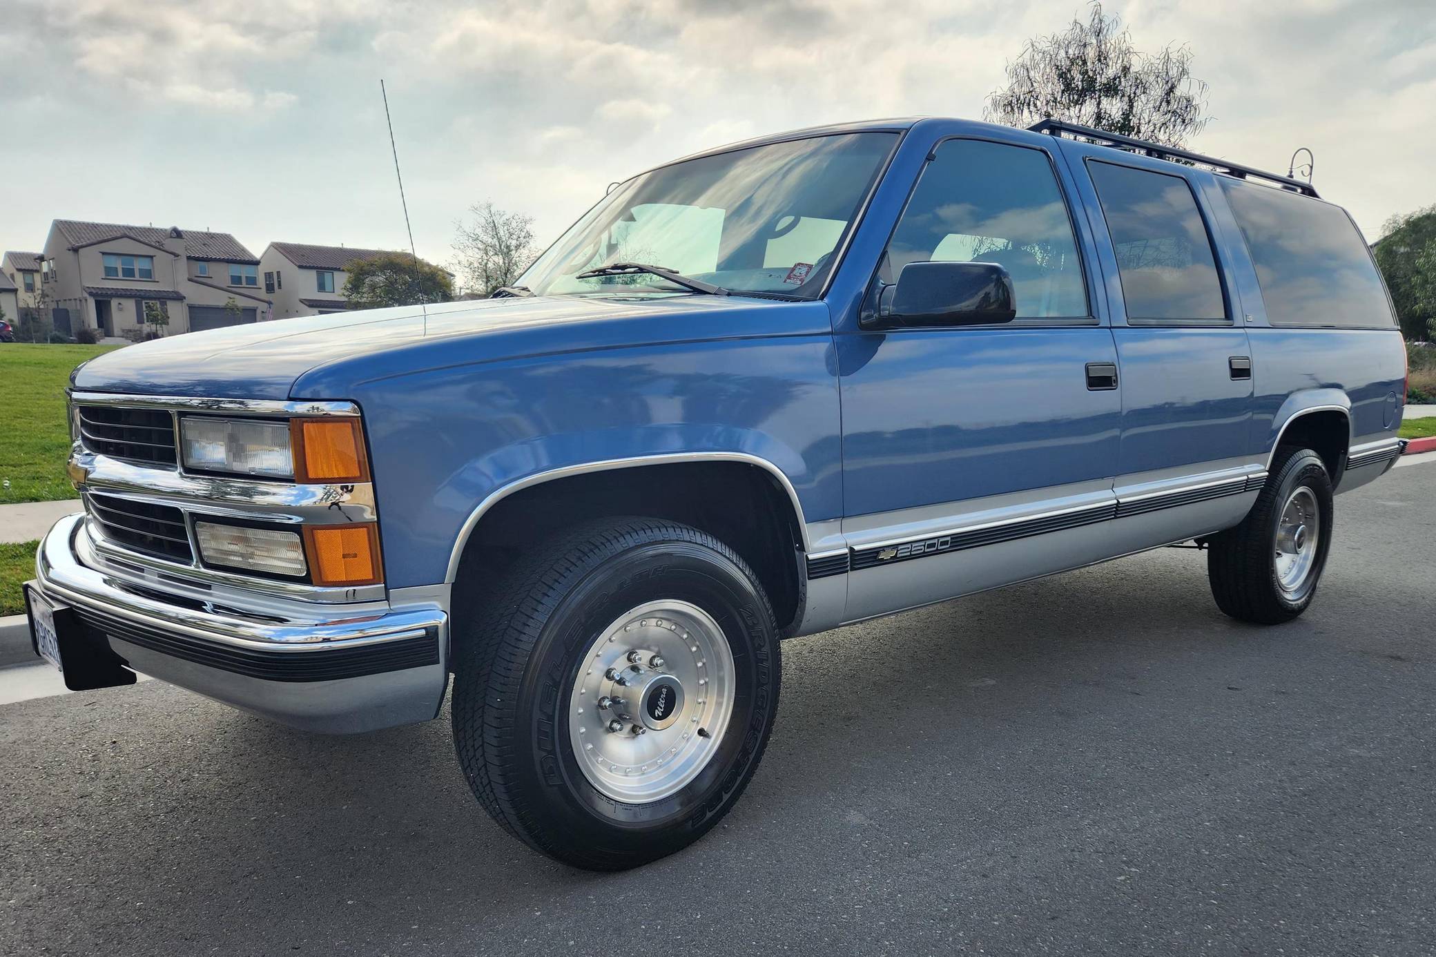
[[[600,793],[646,803],[684,789],[718,752],[737,687],[732,649],[708,612],[676,599],[605,628],[569,694],[569,739]]]

